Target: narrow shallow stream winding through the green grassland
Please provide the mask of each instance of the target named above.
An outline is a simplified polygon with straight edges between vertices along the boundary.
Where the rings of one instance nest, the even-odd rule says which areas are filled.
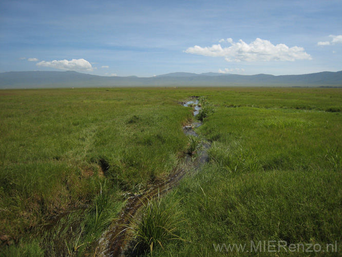
[[[200,110],[198,106],[198,100],[193,97],[194,100],[181,103],[183,106],[193,106],[194,116],[196,116]],[[189,136],[198,136],[193,130],[196,127],[202,125],[201,122],[194,122],[187,124],[183,127],[184,134]],[[134,217],[137,211],[146,202],[146,199],[156,197],[158,194],[163,195],[169,190],[178,185],[179,181],[184,175],[194,173],[198,171],[202,165],[208,161],[207,149],[210,147],[210,143],[203,142],[203,147],[198,151],[197,157],[192,158],[189,155],[185,155],[181,165],[174,169],[174,172],[170,174],[164,181],[159,181],[155,184],[148,185],[147,189],[141,194],[136,194],[127,199],[126,205],[120,211],[118,218],[116,218],[105,231],[100,240],[99,245],[96,248],[96,256],[99,257],[111,257],[111,256],[132,256],[132,249],[134,246],[130,244],[127,225],[129,225],[129,217]]]

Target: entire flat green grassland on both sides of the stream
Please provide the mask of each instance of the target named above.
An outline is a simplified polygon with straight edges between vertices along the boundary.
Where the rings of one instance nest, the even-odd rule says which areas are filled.
[[[190,96],[210,109],[196,128],[210,161],[161,199],[182,221],[178,240],[146,254],[234,256],[217,244],[286,241],[337,242],[324,254],[340,255],[341,89],[91,88],[0,92],[0,256],[90,254],[127,195],[188,151],[191,107],[178,102]]]

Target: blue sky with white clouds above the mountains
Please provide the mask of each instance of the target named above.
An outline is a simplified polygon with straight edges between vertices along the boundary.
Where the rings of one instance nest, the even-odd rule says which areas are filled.
[[[342,0],[0,0],[0,72],[342,70]]]

